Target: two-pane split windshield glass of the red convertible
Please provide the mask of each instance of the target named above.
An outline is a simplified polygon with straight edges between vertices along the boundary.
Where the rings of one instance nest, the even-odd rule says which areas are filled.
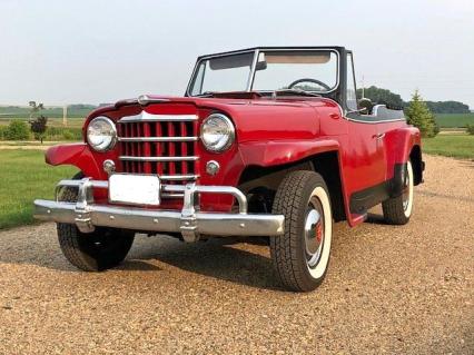
[[[337,85],[338,56],[333,50],[249,51],[201,60],[189,95],[288,89],[326,93]]]

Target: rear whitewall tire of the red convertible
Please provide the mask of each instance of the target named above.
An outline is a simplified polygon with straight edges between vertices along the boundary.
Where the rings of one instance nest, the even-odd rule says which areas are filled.
[[[404,181],[404,193],[382,203],[385,221],[389,225],[406,225],[413,213],[413,167],[408,160]]]

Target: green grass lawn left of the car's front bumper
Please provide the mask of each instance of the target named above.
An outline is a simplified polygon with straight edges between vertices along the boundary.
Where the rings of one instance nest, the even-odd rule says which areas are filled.
[[[36,198],[52,198],[56,183],[73,167],[51,167],[40,150],[0,150],[0,229],[33,223]]]

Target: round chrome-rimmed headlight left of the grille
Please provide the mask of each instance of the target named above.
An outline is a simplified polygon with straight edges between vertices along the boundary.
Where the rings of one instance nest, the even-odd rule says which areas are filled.
[[[112,149],[117,142],[116,125],[107,117],[96,117],[87,127],[87,141],[97,151]]]

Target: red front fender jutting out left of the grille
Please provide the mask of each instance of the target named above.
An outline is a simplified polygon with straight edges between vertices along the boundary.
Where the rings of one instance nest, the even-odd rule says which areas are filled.
[[[45,154],[45,160],[52,166],[72,165],[79,168],[85,176],[95,179],[103,178],[103,171],[97,165],[97,160],[85,142],[59,145],[49,148]]]

